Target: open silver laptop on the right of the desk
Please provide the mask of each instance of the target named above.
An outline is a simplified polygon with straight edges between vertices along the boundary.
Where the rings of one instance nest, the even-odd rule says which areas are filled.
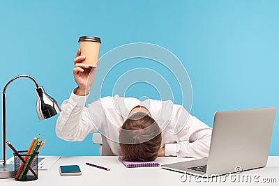
[[[239,173],[266,166],[276,108],[217,111],[209,157],[163,164],[163,169],[195,176]]]

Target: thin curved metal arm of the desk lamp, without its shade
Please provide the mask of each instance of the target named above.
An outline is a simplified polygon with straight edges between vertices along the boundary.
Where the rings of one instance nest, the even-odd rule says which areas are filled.
[[[6,85],[3,88],[3,93],[2,93],[2,118],[3,118],[3,160],[1,162],[3,162],[3,168],[6,168],[6,89],[8,87],[8,85],[13,82],[15,79],[18,79],[20,77],[27,77],[31,80],[33,80],[33,82],[35,83],[36,87],[39,87],[38,82],[36,81],[35,78],[31,77],[30,75],[18,75],[16,77],[13,77],[12,79],[10,79],[10,81],[8,81],[6,83]]]

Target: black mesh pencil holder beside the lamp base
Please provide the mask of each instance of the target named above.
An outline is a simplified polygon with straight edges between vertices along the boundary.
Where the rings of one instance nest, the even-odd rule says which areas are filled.
[[[31,181],[38,179],[38,153],[27,155],[27,150],[13,153],[15,158],[15,180]]]

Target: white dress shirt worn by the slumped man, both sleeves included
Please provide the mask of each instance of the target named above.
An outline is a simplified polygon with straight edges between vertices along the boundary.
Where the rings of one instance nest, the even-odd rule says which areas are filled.
[[[73,91],[74,92],[74,91]],[[85,107],[87,96],[71,93],[61,106],[56,122],[57,137],[66,141],[82,141],[89,133],[100,131],[107,138],[112,155],[121,155],[119,127],[137,105],[149,110],[162,129],[166,156],[208,157],[211,127],[172,101],[114,97],[100,98]]]

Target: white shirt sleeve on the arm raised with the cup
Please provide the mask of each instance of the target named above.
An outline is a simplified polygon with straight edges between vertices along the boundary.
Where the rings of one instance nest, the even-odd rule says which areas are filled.
[[[66,141],[82,141],[89,133],[97,132],[101,124],[101,122],[95,122],[97,120],[94,116],[89,116],[88,109],[84,107],[88,95],[79,96],[74,92],[75,90],[70,98],[62,103],[56,122],[57,137]],[[90,107],[96,113],[103,112],[100,108],[100,100],[91,103]]]

